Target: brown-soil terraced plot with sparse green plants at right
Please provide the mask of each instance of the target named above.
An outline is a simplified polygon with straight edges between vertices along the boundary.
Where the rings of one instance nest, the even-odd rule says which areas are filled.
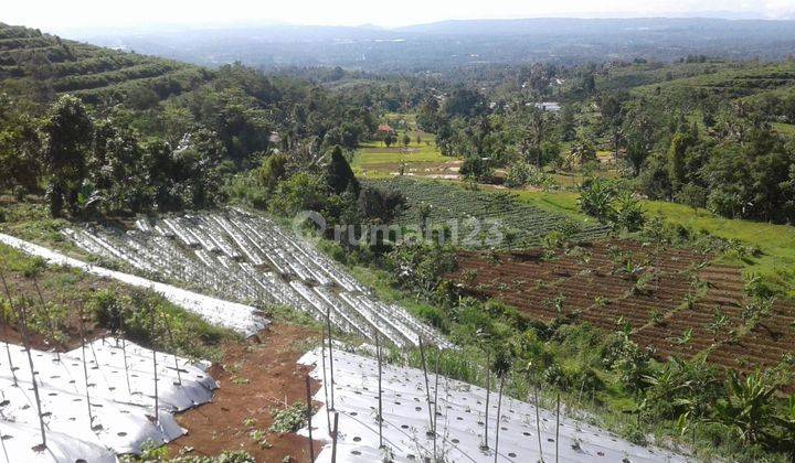
[[[449,278],[544,323],[587,322],[653,347],[658,358],[704,355],[751,372],[795,355],[795,304],[754,305],[739,268],[689,250],[607,241],[545,255],[465,251]]]

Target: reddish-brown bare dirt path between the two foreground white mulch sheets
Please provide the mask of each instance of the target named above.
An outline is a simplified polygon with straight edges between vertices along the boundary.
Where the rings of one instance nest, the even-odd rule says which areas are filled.
[[[224,362],[210,373],[220,384],[212,403],[177,417],[188,434],[172,442],[172,456],[216,455],[224,450],[245,450],[257,462],[309,462],[309,441],[296,434],[268,431],[273,411],[306,401],[305,378],[310,368],[296,362],[307,351],[317,333],[304,327],[275,324],[261,335],[261,343],[224,346]],[[312,383],[312,394],[318,385]],[[262,431],[261,444],[252,432]],[[315,443],[316,453],[321,449]]]

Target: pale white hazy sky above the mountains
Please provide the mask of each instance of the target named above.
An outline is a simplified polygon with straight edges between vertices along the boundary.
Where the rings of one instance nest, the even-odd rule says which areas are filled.
[[[144,24],[296,24],[383,26],[446,19],[626,17],[732,11],[780,19],[795,0],[2,0],[0,22],[50,31]]]

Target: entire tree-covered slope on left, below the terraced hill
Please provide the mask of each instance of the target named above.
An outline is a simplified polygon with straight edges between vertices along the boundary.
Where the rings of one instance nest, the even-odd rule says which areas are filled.
[[[264,159],[352,150],[378,128],[369,107],[240,64],[168,100],[127,90],[119,105],[62,96],[44,110],[0,96],[0,190],[46,192],[54,215],[208,207]]]

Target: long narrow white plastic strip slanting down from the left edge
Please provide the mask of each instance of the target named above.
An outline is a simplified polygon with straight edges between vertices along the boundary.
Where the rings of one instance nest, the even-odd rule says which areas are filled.
[[[200,315],[208,323],[234,330],[241,334],[244,334],[245,336],[251,336],[259,332],[267,325],[267,320],[263,319],[259,312],[250,305],[211,298],[204,294],[199,294],[197,292],[187,291],[184,289],[177,288],[170,284],[151,281],[146,278],[109,270],[92,263],[83,262],[81,260],[73,259],[60,252],[50,250],[42,246],[34,245],[32,243],[21,240],[19,238],[14,238],[9,235],[0,234],[0,243],[22,250],[29,255],[44,258],[47,262],[53,265],[77,268],[97,277],[112,278],[114,280],[118,280],[134,287],[152,290],[163,295],[172,303],[181,306],[182,309]],[[94,249],[108,249],[110,248],[110,246],[104,241],[102,241],[103,245],[99,245],[98,243],[100,241],[94,239],[94,245],[89,246],[84,244],[84,248],[88,249],[91,252],[106,256],[100,250]],[[115,249],[114,251],[118,252]],[[110,251],[107,252],[110,254]],[[135,252],[130,254],[132,255]],[[114,254],[110,254],[110,256],[116,258]],[[141,266],[148,267],[148,265],[142,263],[138,258],[136,258],[135,261]]]

